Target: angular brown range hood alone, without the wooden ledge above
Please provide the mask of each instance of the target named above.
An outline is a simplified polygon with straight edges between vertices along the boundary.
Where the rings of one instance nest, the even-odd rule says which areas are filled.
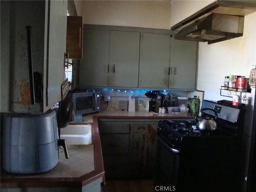
[[[212,44],[243,36],[244,16],[212,13],[184,27],[175,39]]]

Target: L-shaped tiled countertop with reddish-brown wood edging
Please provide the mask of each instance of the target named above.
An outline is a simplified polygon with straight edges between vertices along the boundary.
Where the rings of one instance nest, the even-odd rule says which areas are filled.
[[[120,112],[115,109],[102,110],[96,114],[82,116],[81,123],[71,122],[70,124],[91,124],[92,125],[92,142],[90,146],[83,146],[80,149],[81,154],[86,154],[86,157],[82,162],[83,167],[75,168],[75,170],[65,170],[61,168],[66,162],[62,162],[60,150],[60,162],[57,166],[48,173],[41,174],[40,176],[19,176],[15,174],[9,174],[1,169],[1,188],[33,188],[33,187],[74,187],[80,188],[89,184],[90,182],[104,178],[104,165],[102,158],[102,149],[100,142],[100,134],[98,128],[98,121],[103,119],[144,119],[144,120],[160,120],[160,119],[192,119],[194,116],[171,116],[168,113],[149,115],[146,111],[136,112]],[[69,147],[69,150],[79,150],[80,146]],[[83,149],[83,151],[81,151]],[[93,153],[93,154],[92,154]],[[88,156],[90,154],[90,156]],[[70,154],[71,155],[71,154]],[[75,157],[76,154],[73,154]],[[72,155],[71,155],[72,156]],[[80,156],[81,157],[81,156]],[[94,162],[94,164],[93,164]],[[72,162],[74,163],[74,162]],[[81,162],[80,162],[81,163]],[[88,166],[85,166],[88,165]],[[81,164],[80,164],[81,165]],[[66,166],[68,169],[70,165]],[[62,174],[56,174],[59,170]],[[85,171],[85,172],[84,172]],[[55,174],[55,175],[54,175]],[[103,181],[104,183],[104,181]]]

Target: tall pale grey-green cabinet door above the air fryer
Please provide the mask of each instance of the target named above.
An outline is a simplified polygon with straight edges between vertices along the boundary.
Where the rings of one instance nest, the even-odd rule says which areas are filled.
[[[46,10],[48,32],[45,33],[46,98],[44,112],[61,100],[61,84],[65,80],[64,53],[66,52],[68,2],[49,1]],[[45,26],[46,28],[46,26]]]

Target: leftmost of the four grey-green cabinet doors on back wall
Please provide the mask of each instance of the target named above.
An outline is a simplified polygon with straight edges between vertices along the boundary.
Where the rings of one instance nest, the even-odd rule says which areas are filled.
[[[83,45],[79,86],[108,86],[110,31],[85,29]]]

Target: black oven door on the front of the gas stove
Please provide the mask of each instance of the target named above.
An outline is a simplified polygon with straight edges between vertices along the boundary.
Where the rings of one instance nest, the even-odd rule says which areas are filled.
[[[156,142],[156,159],[155,159],[155,189],[161,187],[175,189],[178,178],[180,157],[179,150],[168,146],[158,135]]]

